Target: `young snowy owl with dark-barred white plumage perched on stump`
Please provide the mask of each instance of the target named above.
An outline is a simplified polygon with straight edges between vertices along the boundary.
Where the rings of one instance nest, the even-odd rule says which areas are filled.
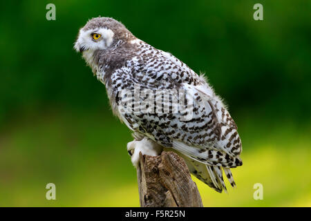
[[[230,171],[242,165],[236,123],[203,75],[109,17],[89,20],[74,48],[106,86],[113,113],[133,131],[127,151],[134,166],[140,152],[170,149],[215,191],[227,191],[223,172],[236,186]]]

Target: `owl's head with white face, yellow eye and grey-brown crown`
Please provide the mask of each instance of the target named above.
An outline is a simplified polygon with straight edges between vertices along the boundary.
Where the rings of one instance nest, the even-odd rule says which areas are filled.
[[[115,19],[108,17],[97,17],[89,20],[79,30],[75,50],[107,50],[120,41],[133,39],[132,33],[125,26]]]

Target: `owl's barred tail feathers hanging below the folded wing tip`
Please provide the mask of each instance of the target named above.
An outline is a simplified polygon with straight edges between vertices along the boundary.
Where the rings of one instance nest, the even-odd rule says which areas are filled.
[[[231,186],[236,186],[236,183],[234,182],[232,173],[229,168],[202,164],[198,161],[190,159],[185,155],[182,155],[182,157],[185,159],[190,173],[192,173],[195,177],[198,178],[198,180],[201,180],[209,187],[211,187],[211,189],[214,189],[218,193],[221,193],[222,191],[227,193],[227,188],[223,180],[223,171],[225,172],[225,175],[227,176],[227,179],[229,180]]]

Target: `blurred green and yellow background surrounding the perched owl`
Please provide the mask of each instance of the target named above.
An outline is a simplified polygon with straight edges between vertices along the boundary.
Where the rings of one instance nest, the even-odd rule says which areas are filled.
[[[56,21],[46,20],[55,3]],[[263,4],[263,21],[253,6]],[[311,1],[1,1],[0,206],[139,206],[129,129],[73,50],[113,17],[205,73],[243,142],[237,189],[205,206],[311,206]],[[57,200],[45,186],[56,185]],[[263,184],[263,200],[253,186]],[[228,182],[227,182],[228,184]]]

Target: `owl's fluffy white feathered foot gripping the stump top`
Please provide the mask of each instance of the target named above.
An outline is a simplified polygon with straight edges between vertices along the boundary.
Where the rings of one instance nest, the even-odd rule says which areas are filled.
[[[162,147],[153,140],[144,137],[142,140],[133,140],[129,142],[127,144],[127,151],[129,155],[131,155],[133,166],[137,168],[140,162],[140,152],[142,155],[158,156],[162,151]]]

